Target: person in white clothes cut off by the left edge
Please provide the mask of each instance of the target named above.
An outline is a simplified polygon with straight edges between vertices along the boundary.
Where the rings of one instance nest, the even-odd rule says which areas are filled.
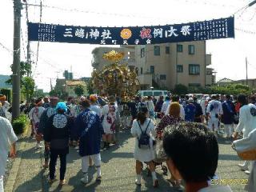
[[[10,150],[10,157],[14,158],[16,155],[15,142],[18,138],[6,118],[0,117],[0,127],[0,192],[3,192],[3,175],[6,171],[8,151]]]

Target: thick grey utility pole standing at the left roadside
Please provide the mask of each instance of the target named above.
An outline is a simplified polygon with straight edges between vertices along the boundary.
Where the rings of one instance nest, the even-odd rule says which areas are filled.
[[[22,3],[20,0],[14,0],[14,61],[13,61],[13,102],[12,102],[12,119],[17,118],[20,114],[20,46],[21,46],[21,10]]]

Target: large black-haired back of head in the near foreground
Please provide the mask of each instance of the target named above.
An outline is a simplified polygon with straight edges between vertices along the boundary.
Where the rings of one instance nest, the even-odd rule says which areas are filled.
[[[218,142],[206,126],[193,122],[166,126],[163,148],[177,179],[191,183],[206,182],[214,177]]]

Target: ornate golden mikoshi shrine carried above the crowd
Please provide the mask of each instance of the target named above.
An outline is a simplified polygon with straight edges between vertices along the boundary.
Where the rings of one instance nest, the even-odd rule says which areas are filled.
[[[127,64],[119,62],[124,57],[124,53],[118,53],[111,50],[107,54],[103,54],[102,58],[106,58],[114,63],[103,66],[101,71],[94,71],[92,74],[92,83],[94,90],[101,94],[116,94],[123,100],[132,98],[138,91],[139,82],[135,71],[131,71]]]

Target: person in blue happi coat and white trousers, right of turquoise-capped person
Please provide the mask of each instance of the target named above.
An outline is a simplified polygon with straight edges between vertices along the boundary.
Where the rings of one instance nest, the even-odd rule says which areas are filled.
[[[82,157],[82,172],[84,177],[81,182],[88,183],[89,157],[97,168],[96,181],[101,181],[101,155],[100,146],[103,133],[102,122],[98,114],[90,110],[90,101],[85,99],[80,102],[82,113],[75,120],[77,137],[79,138],[79,154]]]

